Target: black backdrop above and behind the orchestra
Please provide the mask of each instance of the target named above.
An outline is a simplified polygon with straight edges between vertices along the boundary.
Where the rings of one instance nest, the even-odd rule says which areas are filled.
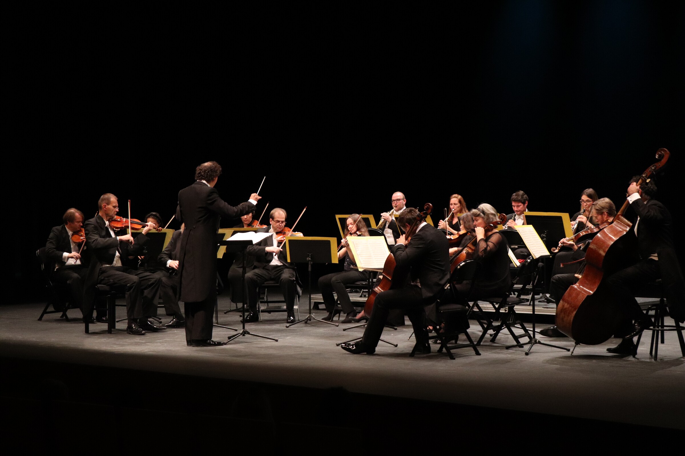
[[[308,206],[298,230],[339,236],[334,214],[378,217],[396,190],[434,218],[451,193],[572,214],[593,187],[620,206],[664,147],[658,199],[685,223],[682,2],[28,8],[5,62],[27,222],[12,301],[40,298],[34,252],[67,208],[92,217],[112,192],[169,219],[208,160],[227,202],[266,175],[259,212]]]

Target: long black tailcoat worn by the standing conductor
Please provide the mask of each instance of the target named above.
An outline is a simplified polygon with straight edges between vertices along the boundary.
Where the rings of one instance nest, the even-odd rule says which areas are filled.
[[[219,197],[219,191],[200,181],[179,191],[176,218],[186,224],[179,250],[180,301],[204,301],[216,293],[219,220],[240,217],[253,207],[249,201],[231,206]]]

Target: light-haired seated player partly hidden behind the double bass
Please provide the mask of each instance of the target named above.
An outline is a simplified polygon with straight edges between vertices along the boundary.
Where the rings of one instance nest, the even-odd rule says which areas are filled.
[[[593,213],[595,222],[597,222],[599,225],[612,222],[614,217],[616,217],[616,206],[614,206],[614,203],[609,198],[601,198],[595,202],[595,209],[593,210]],[[559,241],[559,244],[569,248],[569,252],[571,253],[566,255],[563,255],[564,252],[558,253],[554,258],[555,269],[562,268],[562,265],[558,264],[560,262],[571,263],[579,260],[582,261],[579,261],[580,267],[575,273],[562,273],[552,276],[551,281],[549,282],[549,295],[557,304],[559,304],[559,301],[561,301],[561,298],[564,296],[564,293],[566,293],[566,290],[568,290],[571,285],[575,284],[575,282],[580,280],[580,277],[583,274],[585,269],[585,252],[592,241],[592,237],[590,236],[590,234],[580,234],[577,242],[571,239],[561,239]],[[556,326],[547,327],[544,330],[540,330],[540,334],[547,337],[566,337],[566,334],[558,330]]]

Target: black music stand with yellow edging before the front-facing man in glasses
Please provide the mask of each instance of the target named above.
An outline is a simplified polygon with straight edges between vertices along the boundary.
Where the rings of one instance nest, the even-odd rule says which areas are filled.
[[[307,263],[308,282],[309,282],[309,313],[306,317],[295,323],[290,323],[286,327],[297,325],[297,323],[309,323],[312,320],[338,326],[338,323],[317,319],[312,314],[312,263],[338,263],[338,252],[336,250],[336,238],[334,237],[300,237],[292,236],[286,238],[286,254],[288,263]]]

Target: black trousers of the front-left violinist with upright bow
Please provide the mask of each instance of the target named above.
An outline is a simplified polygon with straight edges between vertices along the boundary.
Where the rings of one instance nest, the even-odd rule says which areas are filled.
[[[149,271],[134,271],[124,266],[100,268],[98,284],[126,292],[126,317],[129,323],[157,313],[160,278]]]

